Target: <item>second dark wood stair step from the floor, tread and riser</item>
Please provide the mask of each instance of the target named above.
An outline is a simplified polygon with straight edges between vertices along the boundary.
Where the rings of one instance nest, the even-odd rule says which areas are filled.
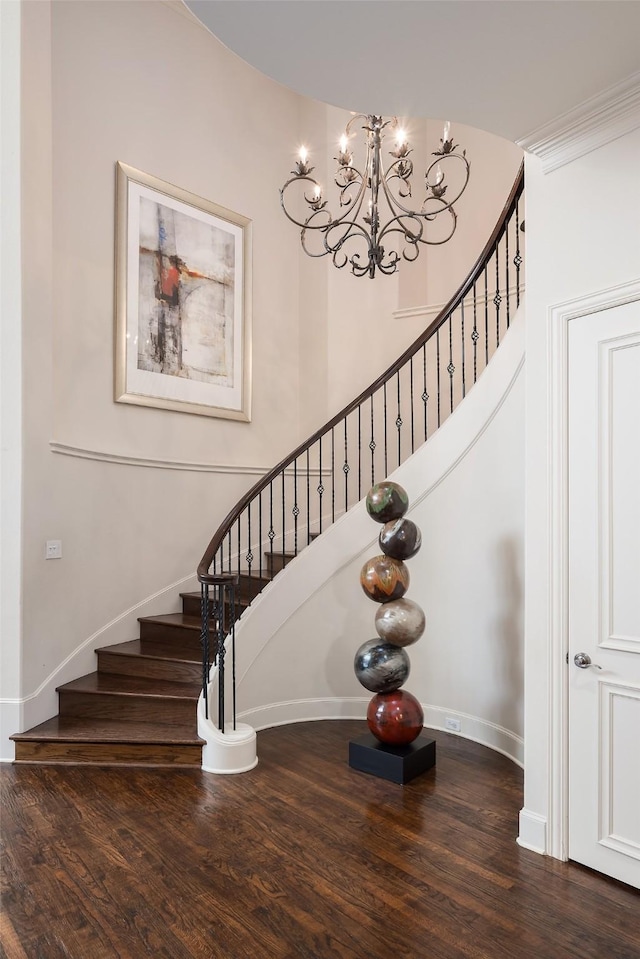
[[[89,673],[57,689],[61,716],[164,723],[196,722],[200,686],[164,679]]]

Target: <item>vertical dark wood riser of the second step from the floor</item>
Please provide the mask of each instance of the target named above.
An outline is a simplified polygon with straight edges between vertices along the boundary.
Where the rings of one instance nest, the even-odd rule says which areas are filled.
[[[158,699],[151,696],[111,693],[59,692],[61,716],[86,716],[92,719],[119,719],[161,723],[188,723],[196,726],[196,697]]]

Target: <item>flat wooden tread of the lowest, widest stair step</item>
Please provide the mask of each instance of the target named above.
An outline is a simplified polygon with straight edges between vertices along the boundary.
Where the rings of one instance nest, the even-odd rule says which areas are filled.
[[[203,745],[194,732],[194,725],[167,725],[156,722],[127,722],[124,720],[88,719],[75,716],[54,716],[11,736],[15,742],[95,742],[148,743],[149,745]]]

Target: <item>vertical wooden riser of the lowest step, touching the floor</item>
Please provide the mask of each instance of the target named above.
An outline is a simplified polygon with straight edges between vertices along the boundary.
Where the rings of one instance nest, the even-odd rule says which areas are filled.
[[[96,766],[200,766],[202,746],[149,743],[16,743],[17,763],[87,763]]]

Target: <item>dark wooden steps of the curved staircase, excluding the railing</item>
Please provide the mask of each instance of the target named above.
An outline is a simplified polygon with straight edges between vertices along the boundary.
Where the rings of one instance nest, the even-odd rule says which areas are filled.
[[[271,578],[242,575],[242,605]],[[181,600],[181,613],[141,617],[139,639],[97,649],[95,673],[59,686],[58,715],[11,737],[15,762],[200,768],[200,593]]]

